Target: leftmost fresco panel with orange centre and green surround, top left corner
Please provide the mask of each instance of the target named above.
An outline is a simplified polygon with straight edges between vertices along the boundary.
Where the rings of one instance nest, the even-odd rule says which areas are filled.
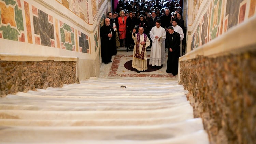
[[[20,0],[0,0],[0,38],[25,42]]]

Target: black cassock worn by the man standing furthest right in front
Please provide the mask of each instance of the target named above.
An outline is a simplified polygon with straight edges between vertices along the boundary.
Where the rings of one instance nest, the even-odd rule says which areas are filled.
[[[180,34],[175,32],[173,34],[167,34],[166,44],[168,48],[168,59],[167,59],[167,73],[172,73],[172,75],[178,74],[179,67],[179,57],[180,57],[180,43],[181,43]],[[169,48],[172,48],[170,52]]]

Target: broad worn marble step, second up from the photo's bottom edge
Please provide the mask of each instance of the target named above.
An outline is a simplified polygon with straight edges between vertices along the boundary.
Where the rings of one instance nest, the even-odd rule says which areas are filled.
[[[67,142],[71,140],[160,140],[203,130],[200,118],[146,126],[1,126],[1,142]],[[10,139],[15,135],[15,139]]]

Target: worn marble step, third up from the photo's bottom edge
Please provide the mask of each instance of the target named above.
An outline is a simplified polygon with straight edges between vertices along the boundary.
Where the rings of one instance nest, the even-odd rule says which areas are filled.
[[[14,119],[141,119],[160,118],[180,113],[191,114],[191,105],[182,105],[158,110],[122,111],[37,111],[37,110],[0,110],[0,118]]]

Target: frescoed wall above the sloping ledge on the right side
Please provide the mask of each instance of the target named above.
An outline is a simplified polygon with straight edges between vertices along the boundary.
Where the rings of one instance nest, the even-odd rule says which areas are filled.
[[[191,50],[208,43],[256,14],[255,0],[191,0]]]

